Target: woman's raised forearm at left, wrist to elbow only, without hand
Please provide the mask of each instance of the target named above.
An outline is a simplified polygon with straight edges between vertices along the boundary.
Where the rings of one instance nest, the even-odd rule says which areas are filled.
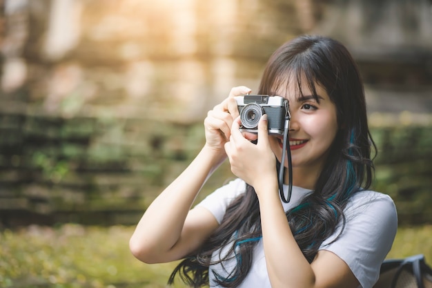
[[[204,146],[184,172],[157,196],[130,239],[130,248],[137,258],[163,255],[173,248],[197,194],[223,160],[224,157]]]

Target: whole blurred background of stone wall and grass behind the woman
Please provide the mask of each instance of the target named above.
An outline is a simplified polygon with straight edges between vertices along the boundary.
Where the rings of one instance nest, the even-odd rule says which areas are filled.
[[[1,287],[164,287],[172,266],[130,256],[133,225],[204,144],[207,111],[233,86],[256,90],[271,53],[305,33],[341,41],[360,67],[373,189],[402,231],[389,255],[432,260],[431,0],[0,9]],[[232,177],[224,164],[199,199]]]

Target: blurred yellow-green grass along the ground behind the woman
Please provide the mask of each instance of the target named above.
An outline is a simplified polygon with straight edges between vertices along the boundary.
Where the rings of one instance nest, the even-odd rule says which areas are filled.
[[[0,233],[0,287],[166,287],[175,263],[146,265],[129,252],[133,227],[30,226]],[[401,227],[388,258],[422,253],[432,263],[432,226]],[[176,285],[177,287],[184,287]]]

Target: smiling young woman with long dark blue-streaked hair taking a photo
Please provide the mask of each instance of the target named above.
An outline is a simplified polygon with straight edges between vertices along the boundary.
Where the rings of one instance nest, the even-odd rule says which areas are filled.
[[[234,97],[248,93],[235,87],[208,112],[206,144],[142,216],[133,255],[184,258],[170,282],[178,273],[192,287],[372,287],[397,214],[388,195],[368,190],[375,144],[351,55],[333,39],[303,36],[278,48],[264,70],[257,93],[290,106],[288,204],[277,180],[282,137],[268,135],[266,115],[257,135],[239,131]],[[237,179],[190,209],[226,158]]]

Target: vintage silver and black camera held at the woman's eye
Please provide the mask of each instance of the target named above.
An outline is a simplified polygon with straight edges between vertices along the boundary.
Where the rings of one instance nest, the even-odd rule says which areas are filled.
[[[268,134],[284,135],[288,100],[280,96],[244,95],[235,97],[242,126],[240,131],[258,133],[258,122],[267,114]]]

